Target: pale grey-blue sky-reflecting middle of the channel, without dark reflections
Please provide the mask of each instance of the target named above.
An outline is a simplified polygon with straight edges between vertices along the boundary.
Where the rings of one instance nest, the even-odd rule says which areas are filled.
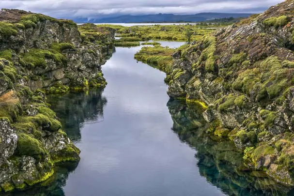
[[[85,109],[100,112],[81,126],[81,161],[66,181],[65,195],[223,195],[195,169],[195,150],[171,131],[165,74],[137,63],[139,48],[117,48],[103,67],[107,88],[98,96],[89,92],[90,100],[104,101]]]

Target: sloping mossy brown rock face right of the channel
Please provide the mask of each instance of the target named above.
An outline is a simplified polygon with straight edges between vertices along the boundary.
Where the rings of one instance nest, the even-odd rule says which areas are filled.
[[[247,166],[286,185],[294,185],[293,51],[294,0],[286,0],[177,51],[181,75],[167,73],[171,98],[204,101],[204,119],[214,132],[230,130]]]

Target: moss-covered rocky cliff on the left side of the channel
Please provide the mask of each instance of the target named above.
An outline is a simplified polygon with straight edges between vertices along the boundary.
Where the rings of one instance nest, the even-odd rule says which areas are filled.
[[[105,87],[114,30],[20,10],[0,11],[0,191],[46,181],[79,161],[46,93]]]

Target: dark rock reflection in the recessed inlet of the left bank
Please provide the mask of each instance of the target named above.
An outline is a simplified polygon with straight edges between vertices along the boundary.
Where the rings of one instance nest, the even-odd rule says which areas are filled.
[[[102,96],[103,90],[94,89],[86,93],[69,93],[62,97],[47,96],[47,102],[62,122],[62,129],[73,142],[81,139],[80,128],[84,121],[95,123],[103,121],[103,108],[107,99]]]

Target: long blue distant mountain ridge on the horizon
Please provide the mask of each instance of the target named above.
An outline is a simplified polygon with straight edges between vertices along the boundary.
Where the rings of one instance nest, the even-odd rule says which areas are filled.
[[[88,18],[71,18],[76,23],[144,23],[144,22],[200,22],[213,20],[216,18],[240,18],[248,17],[251,14],[231,14],[231,13],[199,13],[195,15],[173,15],[173,14],[156,14],[156,15],[120,15],[108,17]]]

